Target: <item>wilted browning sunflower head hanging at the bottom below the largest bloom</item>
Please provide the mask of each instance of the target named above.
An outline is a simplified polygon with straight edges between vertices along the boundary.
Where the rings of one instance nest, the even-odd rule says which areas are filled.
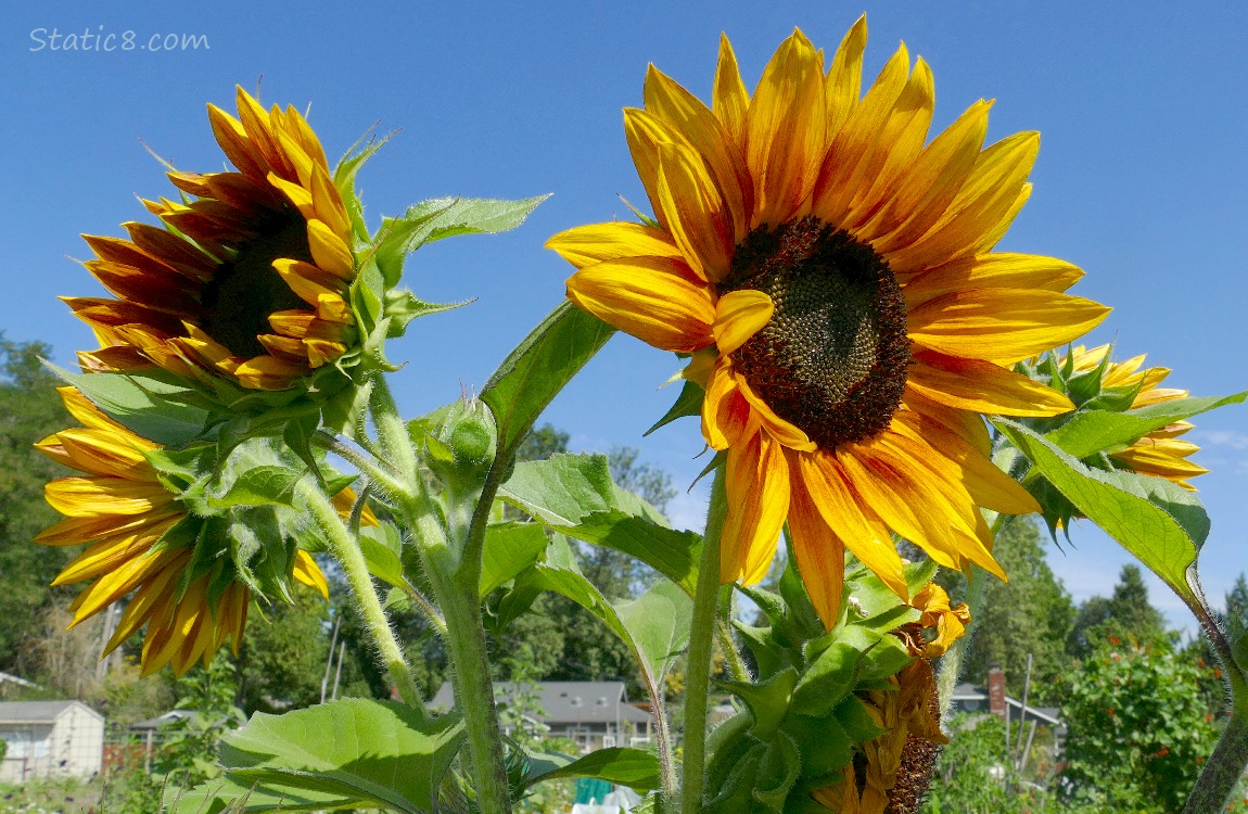
[[[886,732],[859,744],[840,783],[814,793],[815,800],[837,814],[919,812],[937,747],[948,743],[940,730],[931,659],[962,638],[971,614],[965,603],[951,608],[948,594],[934,582],[915,594],[911,606],[922,615],[894,634],[915,660],[886,679],[889,689],[859,695],[871,719]]]

